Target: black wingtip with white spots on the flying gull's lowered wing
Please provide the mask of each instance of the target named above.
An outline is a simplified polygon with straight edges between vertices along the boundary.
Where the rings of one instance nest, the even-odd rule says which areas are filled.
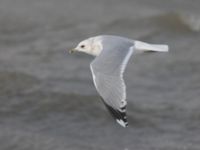
[[[113,116],[113,118],[117,121],[117,123],[119,123],[123,127],[128,127],[128,121],[127,121],[125,106],[123,107],[122,111],[120,111],[120,110],[114,109],[113,107],[106,104],[102,97],[101,97],[101,100],[103,101],[106,108],[109,110],[109,112]]]

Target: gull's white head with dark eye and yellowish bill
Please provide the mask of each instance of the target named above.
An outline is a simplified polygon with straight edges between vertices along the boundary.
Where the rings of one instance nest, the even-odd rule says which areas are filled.
[[[70,50],[69,52],[72,53],[75,51],[79,51],[79,52],[85,52],[90,55],[98,56],[101,50],[102,50],[101,40],[93,37],[80,42],[76,46],[76,48]]]

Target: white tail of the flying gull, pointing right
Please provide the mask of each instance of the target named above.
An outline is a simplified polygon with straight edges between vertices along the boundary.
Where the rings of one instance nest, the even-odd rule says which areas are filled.
[[[168,45],[148,44],[145,42],[135,41],[134,48],[140,52],[168,52]]]

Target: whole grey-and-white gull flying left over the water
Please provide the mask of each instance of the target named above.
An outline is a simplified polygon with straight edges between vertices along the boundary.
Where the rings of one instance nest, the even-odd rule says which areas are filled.
[[[128,126],[126,116],[126,85],[123,73],[132,54],[168,52],[168,45],[148,44],[120,36],[100,35],[80,42],[69,52],[84,52],[95,56],[90,64],[94,85],[114,119]]]

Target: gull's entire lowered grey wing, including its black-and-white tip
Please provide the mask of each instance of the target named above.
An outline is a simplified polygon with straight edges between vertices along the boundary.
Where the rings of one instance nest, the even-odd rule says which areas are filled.
[[[123,72],[132,52],[133,47],[130,46],[102,50],[90,64],[98,93],[112,116],[123,127],[128,125]]]

